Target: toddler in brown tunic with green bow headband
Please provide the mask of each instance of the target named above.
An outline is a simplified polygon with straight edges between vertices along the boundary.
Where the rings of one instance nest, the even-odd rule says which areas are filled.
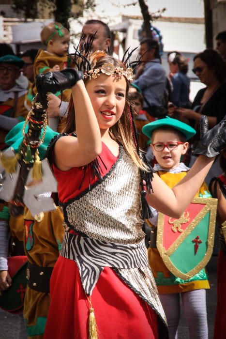
[[[68,46],[70,40],[69,31],[63,27],[59,22],[51,22],[46,25],[41,31],[41,41],[46,46],[46,50],[39,49],[37,56],[34,61],[34,78],[38,74],[45,74],[50,71],[61,71],[66,67],[73,67],[75,63],[72,60],[72,57],[68,55]],[[31,107],[31,102],[34,95],[37,93],[35,83],[32,85],[31,92],[28,94],[28,105]],[[52,93],[48,94],[49,100],[60,104],[60,99],[62,102],[68,102],[71,96],[71,90],[66,89],[62,92],[62,97],[60,92],[55,92],[55,96],[58,96],[59,99],[55,98]],[[30,103],[29,103],[30,101]],[[66,109],[64,109],[64,104],[60,108],[61,117],[65,115]],[[48,118],[48,124],[53,130],[58,130],[59,116]]]

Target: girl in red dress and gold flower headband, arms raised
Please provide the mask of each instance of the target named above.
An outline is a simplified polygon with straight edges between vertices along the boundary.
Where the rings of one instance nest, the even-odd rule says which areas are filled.
[[[104,52],[91,58],[84,82],[74,70],[36,80],[38,91],[72,87],[73,96],[69,134],[49,149],[65,236],[51,277],[44,338],[168,338],[144,246],[142,224],[150,214],[143,178],[150,189],[152,173],[137,153],[127,102],[132,70]],[[203,127],[198,154],[214,157],[225,145],[226,136],[218,139],[217,129],[223,127],[209,132]],[[213,134],[216,143],[207,149]],[[173,190],[154,174],[149,204],[179,217],[212,162],[201,155]]]

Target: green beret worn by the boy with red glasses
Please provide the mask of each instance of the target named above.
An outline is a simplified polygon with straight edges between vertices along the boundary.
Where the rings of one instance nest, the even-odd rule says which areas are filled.
[[[178,129],[181,133],[184,134],[186,140],[191,139],[196,134],[195,129],[189,126],[187,123],[182,123],[180,120],[173,119],[170,117],[155,120],[152,123],[147,123],[146,125],[143,126],[142,132],[151,139],[153,131],[163,126]]]

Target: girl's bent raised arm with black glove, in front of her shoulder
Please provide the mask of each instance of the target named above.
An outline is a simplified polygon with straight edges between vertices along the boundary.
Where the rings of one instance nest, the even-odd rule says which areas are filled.
[[[72,88],[77,138],[64,136],[56,142],[55,163],[60,170],[86,165],[102,149],[100,128],[82,78],[81,72],[74,69],[48,72],[40,79],[36,78],[38,91],[57,92]]]

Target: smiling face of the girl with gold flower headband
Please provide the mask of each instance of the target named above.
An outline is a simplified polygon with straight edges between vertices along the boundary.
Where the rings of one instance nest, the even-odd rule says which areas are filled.
[[[96,79],[87,80],[86,90],[100,129],[112,127],[121,118],[125,107],[126,87],[125,78],[117,74],[100,74]]]

